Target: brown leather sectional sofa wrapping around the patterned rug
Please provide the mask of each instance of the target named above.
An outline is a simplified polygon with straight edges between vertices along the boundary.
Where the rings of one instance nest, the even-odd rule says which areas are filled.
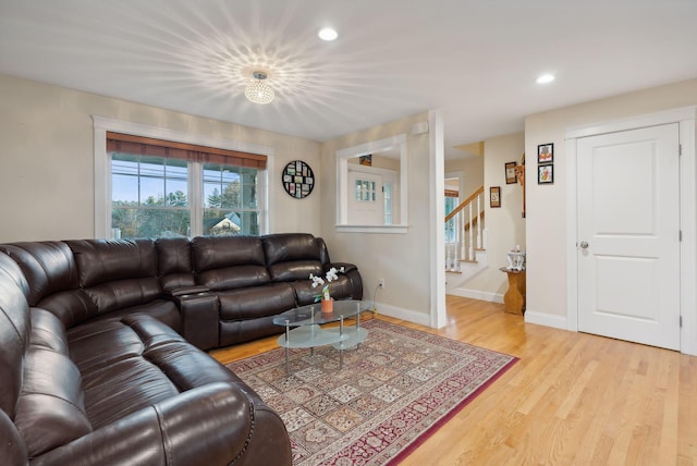
[[[321,238],[0,245],[0,461],[8,465],[284,465],[278,415],[201,350],[280,333],[276,315],[363,296]]]

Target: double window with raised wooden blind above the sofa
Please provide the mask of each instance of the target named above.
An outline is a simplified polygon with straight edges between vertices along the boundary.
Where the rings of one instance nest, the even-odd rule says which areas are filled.
[[[258,235],[266,157],[107,133],[111,235]]]

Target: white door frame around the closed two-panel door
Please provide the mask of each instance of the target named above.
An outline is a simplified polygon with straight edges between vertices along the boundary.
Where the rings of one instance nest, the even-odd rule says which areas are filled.
[[[697,164],[695,162],[697,106],[614,120],[568,130],[566,151],[566,329],[578,331],[578,247],[576,139],[607,133],[677,123],[680,126],[681,203],[681,353],[697,355]]]

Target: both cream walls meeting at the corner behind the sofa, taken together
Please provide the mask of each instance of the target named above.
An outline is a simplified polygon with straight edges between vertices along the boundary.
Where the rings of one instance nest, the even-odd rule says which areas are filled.
[[[401,317],[429,324],[429,134],[409,134],[413,123],[428,121],[428,113],[320,145],[0,75],[0,242],[94,237],[93,115],[272,147],[271,232],[323,236],[333,260],[358,265],[366,298],[374,297],[377,280],[383,278],[378,301]],[[408,233],[338,234],[335,150],[401,133],[408,134]],[[283,167],[296,159],[316,173],[317,185],[305,199],[290,197],[280,182]]]

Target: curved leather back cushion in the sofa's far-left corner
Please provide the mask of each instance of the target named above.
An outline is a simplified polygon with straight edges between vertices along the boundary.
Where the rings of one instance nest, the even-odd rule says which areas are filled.
[[[65,243],[10,243],[0,245],[0,249],[20,265],[29,284],[29,306],[53,293],[77,289],[77,268]]]

